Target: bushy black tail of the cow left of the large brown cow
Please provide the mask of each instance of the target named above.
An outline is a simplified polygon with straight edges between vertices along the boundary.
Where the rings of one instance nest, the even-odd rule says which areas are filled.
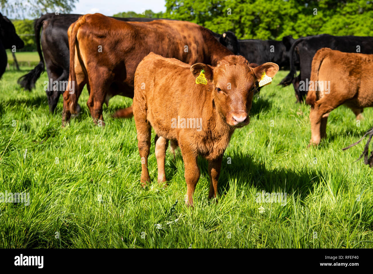
[[[21,85],[23,88],[25,88],[28,91],[31,91],[32,88],[35,88],[36,80],[39,79],[42,72],[44,72],[44,59],[43,59],[43,53],[41,52],[41,45],[40,45],[40,30],[43,26],[43,21],[47,18],[51,17],[51,14],[45,14],[41,16],[38,19],[35,19],[35,42],[36,42],[36,48],[38,50],[38,54],[40,57],[40,62],[37,64],[36,67],[34,67],[33,70],[30,70],[27,74],[21,76],[17,83]]]

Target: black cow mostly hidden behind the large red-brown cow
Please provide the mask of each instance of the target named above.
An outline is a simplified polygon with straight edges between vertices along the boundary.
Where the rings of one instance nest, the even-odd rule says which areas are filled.
[[[37,50],[40,57],[39,64],[26,75],[21,76],[18,79],[18,84],[27,90],[31,90],[35,87],[35,82],[40,77],[40,74],[44,71],[44,60],[47,67],[48,79],[50,81],[58,83],[60,81],[68,81],[69,79],[69,41],[68,41],[68,28],[69,26],[78,20],[80,14],[60,14],[55,15],[54,13],[47,13],[35,20],[35,41]],[[113,17],[120,21],[139,21],[149,22],[160,18],[119,18]],[[43,32],[40,36],[41,28]],[[218,41],[221,40],[223,35],[214,34]],[[227,36],[227,35],[226,35]],[[231,41],[224,40],[227,45],[231,44]],[[43,53],[41,50],[43,47]],[[43,60],[44,54],[44,60]],[[48,85],[49,86],[49,85]],[[50,84],[53,86],[53,84]],[[57,106],[58,99],[64,91],[54,91],[47,89],[48,105],[50,113],[54,113]]]

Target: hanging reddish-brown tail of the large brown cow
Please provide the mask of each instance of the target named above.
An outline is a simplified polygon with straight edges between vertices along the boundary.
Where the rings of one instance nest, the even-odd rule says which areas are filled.
[[[85,23],[85,16],[81,16],[73,25],[71,34],[69,37],[69,50],[70,50],[70,68],[69,68],[69,90],[73,88],[73,92],[69,92],[70,94],[70,105],[69,109],[72,114],[76,113],[76,105],[78,104],[78,99],[80,94],[82,93],[81,90],[78,89],[78,85],[76,85],[76,74],[75,74],[75,46],[76,46],[76,35],[78,34],[78,30],[82,24]]]

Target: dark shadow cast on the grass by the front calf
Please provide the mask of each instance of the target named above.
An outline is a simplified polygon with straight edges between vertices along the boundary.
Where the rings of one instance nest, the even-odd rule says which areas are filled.
[[[166,157],[173,157],[167,153]],[[258,192],[285,192],[294,195],[299,195],[300,199],[304,199],[313,192],[315,183],[319,184],[323,174],[317,173],[304,167],[300,170],[291,170],[285,168],[270,169],[262,163],[257,163],[252,160],[250,155],[242,155],[235,151],[229,155],[231,164],[227,163],[227,157],[223,157],[222,171],[219,177],[219,196],[229,192],[229,182],[236,182],[238,189],[248,189],[254,186]],[[172,179],[176,175],[178,161],[182,161],[180,151],[176,151],[175,160],[168,161],[166,166],[166,178]],[[167,161],[166,161],[167,162]],[[201,170],[201,177],[206,177],[210,181],[208,163],[205,159],[198,158],[198,167]],[[183,164],[183,172],[184,164]],[[200,179],[201,180],[201,179]]]

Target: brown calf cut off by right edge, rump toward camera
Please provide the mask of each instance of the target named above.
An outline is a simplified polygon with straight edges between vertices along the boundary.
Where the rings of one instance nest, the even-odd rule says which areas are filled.
[[[373,106],[373,54],[345,53],[330,48],[318,50],[312,60],[306,103],[311,105],[310,145],[326,136],[330,111],[345,104],[362,118],[364,107]]]

